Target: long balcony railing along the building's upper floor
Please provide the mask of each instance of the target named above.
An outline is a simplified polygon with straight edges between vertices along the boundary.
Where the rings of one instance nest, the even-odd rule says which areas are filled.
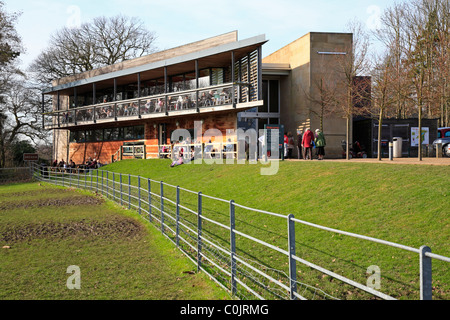
[[[250,84],[226,83],[211,87],[170,92],[137,99],[106,102],[86,107],[45,113],[46,128],[80,124],[140,119],[147,115],[169,116],[183,111],[200,112],[202,108],[250,102]],[[179,112],[178,112],[179,111]]]

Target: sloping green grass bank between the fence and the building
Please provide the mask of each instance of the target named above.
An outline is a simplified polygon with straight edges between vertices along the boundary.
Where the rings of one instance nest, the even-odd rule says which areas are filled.
[[[104,170],[139,175],[203,194],[323,226],[380,238],[450,256],[450,168],[342,162],[282,162],[278,174],[262,176],[262,165],[183,165],[169,160],[126,160]],[[117,180],[117,179],[116,179]],[[135,181],[135,179],[133,178]],[[153,184],[152,188],[158,188]],[[155,192],[159,192],[159,189]],[[174,199],[174,190],[165,189]],[[196,206],[196,195],[181,194]],[[227,204],[204,198],[204,215],[228,224]],[[236,228],[280,248],[287,248],[286,220],[236,210]],[[205,223],[224,246],[228,232]],[[208,231],[205,231],[208,232]],[[365,284],[367,268],[381,269],[381,291],[399,299],[419,298],[418,254],[365,240],[296,227],[297,256]],[[254,261],[287,270],[287,259],[238,237],[239,253]],[[298,279],[342,299],[368,299],[340,281],[298,264]],[[433,297],[450,298],[448,263],[433,260]]]

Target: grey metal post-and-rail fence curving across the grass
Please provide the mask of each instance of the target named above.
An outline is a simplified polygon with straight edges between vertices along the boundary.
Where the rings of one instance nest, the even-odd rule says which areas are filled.
[[[232,200],[215,198],[163,181],[102,170],[84,173],[54,172],[47,167],[36,165],[33,172],[37,180],[97,192],[121,206],[135,209],[139,215],[156,225],[163,235],[173,241],[197,266],[198,271],[204,271],[221,287],[240,299],[337,299],[322,289],[298,281],[297,270],[299,266],[304,266],[308,272],[319,272],[336,279],[368,297],[395,300],[392,296],[374,289],[373,286],[358,283],[297,255],[296,237],[299,226],[312,227],[321,232],[370,241],[417,254],[420,262],[422,300],[432,299],[432,259],[450,262],[448,257],[431,253],[431,249],[427,246],[417,249],[327,228],[296,219],[293,215],[257,210]],[[237,219],[238,212],[258,215],[258,223],[252,224],[251,221],[247,221],[248,215]],[[278,222],[269,221],[269,218]],[[284,223],[280,224],[279,221]],[[270,232],[273,239],[281,237],[283,241],[287,240],[287,247],[282,248],[279,245],[283,241],[269,243],[272,239],[261,240],[257,235],[249,234],[252,233],[250,231],[252,228],[263,229],[261,223],[267,224],[264,228],[270,225],[286,226],[284,235],[282,228]],[[247,227],[246,232],[241,231],[243,226]],[[274,236],[276,233],[280,234]],[[252,250],[257,245],[262,246],[262,250],[253,253]],[[247,249],[243,249],[244,247]]]

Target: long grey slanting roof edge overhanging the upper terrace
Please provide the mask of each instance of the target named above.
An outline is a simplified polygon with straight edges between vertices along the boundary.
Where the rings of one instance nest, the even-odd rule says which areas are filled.
[[[183,71],[183,69],[187,70],[186,67],[183,68],[182,64],[186,64],[188,62],[192,62],[197,59],[198,60],[204,59],[207,57],[215,57],[215,59],[216,59],[215,61],[221,61],[224,59],[224,57],[223,57],[224,54],[226,54],[228,52],[232,52],[232,51],[236,52],[237,58],[238,58],[239,55],[244,55],[246,52],[248,52],[250,50],[254,50],[266,42],[267,42],[267,40],[266,40],[265,35],[258,35],[258,36],[252,37],[252,38],[238,40],[238,41],[226,43],[223,45],[218,45],[215,47],[187,53],[187,54],[176,56],[176,57],[169,58],[166,60],[146,63],[146,64],[143,64],[140,66],[135,66],[135,67],[130,67],[130,68],[122,69],[122,70],[112,71],[110,73],[105,73],[105,74],[93,76],[90,78],[79,79],[79,80],[72,81],[69,83],[52,86],[50,88],[44,89],[42,91],[42,93],[43,94],[56,94],[58,91],[67,90],[67,89],[74,88],[74,87],[92,85],[93,83],[113,80],[115,78],[132,76],[134,74],[143,73],[145,71],[150,71],[150,70],[155,70],[155,69],[160,69],[160,68],[164,68],[167,66],[180,65],[179,71],[181,72],[181,71]],[[226,58],[231,59],[231,56],[230,57],[227,56]],[[212,63],[214,63],[214,61]],[[191,70],[192,70],[192,68],[191,68]]]

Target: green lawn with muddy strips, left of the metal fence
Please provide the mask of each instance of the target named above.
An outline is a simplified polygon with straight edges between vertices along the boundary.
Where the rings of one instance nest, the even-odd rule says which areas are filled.
[[[80,268],[80,290],[66,286],[69,266]],[[1,300],[229,299],[193,271],[153,226],[112,202],[49,184],[0,186]]]

